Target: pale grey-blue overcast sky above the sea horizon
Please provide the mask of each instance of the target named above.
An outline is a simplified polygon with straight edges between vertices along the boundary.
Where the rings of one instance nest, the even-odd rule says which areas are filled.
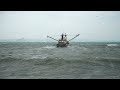
[[[0,39],[120,41],[120,11],[0,11]]]

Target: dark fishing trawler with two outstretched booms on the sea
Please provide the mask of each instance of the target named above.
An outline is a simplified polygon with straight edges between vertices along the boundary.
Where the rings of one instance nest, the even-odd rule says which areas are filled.
[[[72,39],[70,40],[67,40],[67,35],[66,33],[65,34],[62,34],[61,35],[61,38],[59,40],[53,38],[53,37],[50,37],[50,36],[47,36],[47,38],[51,38],[55,41],[57,41],[58,43],[56,44],[57,47],[67,47],[69,45],[69,42],[73,39],[75,39],[76,37],[78,37],[80,34],[76,35],[75,37],[73,37]]]

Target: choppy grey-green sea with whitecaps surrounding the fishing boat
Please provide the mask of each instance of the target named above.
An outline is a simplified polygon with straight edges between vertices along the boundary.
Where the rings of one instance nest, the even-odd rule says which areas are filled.
[[[0,42],[0,79],[120,79],[119,42]]]

